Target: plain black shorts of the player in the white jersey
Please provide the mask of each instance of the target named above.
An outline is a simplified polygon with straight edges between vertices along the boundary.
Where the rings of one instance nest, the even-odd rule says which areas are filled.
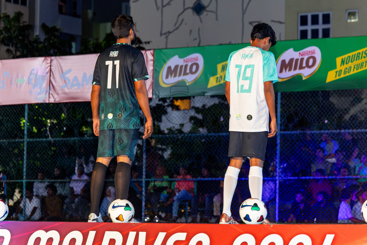
[[[229,131],[229,157],[254,157],[264,161],[268,131],[237,132]]]

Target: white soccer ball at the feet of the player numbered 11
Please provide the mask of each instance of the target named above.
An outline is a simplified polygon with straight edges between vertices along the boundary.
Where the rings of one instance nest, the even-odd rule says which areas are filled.
[[[108,208],[108,216],[114,223],[129,223],[134,218],[134,207],[126,199],[116,199]]]

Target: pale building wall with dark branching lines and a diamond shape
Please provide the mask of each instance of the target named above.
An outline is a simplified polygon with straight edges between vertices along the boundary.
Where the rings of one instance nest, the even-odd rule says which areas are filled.
[[[200,17],[191,9],[195,2],[130,1],[137,36],[150,41],[145,48],[247,43],[258,22],[271,25],[284,40],[285,0],[201,0],[208,7]]]

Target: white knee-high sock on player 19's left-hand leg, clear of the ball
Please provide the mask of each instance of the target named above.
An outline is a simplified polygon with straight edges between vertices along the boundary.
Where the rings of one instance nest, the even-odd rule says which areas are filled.
[[[224,176],[224,184],[223,184],[223,213],[232,216],[230,212],[230,204],[232,203],[233,193],[235,192],[238,174],[240,173],[240,169],[236,167],[228,167],[226,174]]]

